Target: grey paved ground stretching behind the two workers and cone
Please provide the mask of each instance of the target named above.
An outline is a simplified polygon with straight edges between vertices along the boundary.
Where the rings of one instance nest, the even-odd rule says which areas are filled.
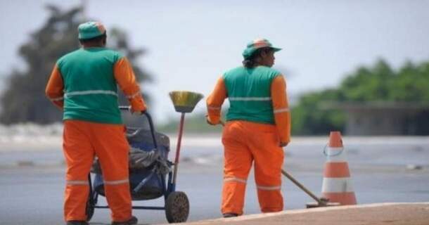
[[[319,139],[312,140],[289,146],[285,168],[319,195],[324,145]],[[352,143],[347,146],[358,203],[429,201],[428,139],[363,140],[350,141]],[[0,224],[63,224],[64,166],[60,163],[63,156],[59,148],[38,146],[41,150],[37,151],[19,150],[20,147],[15,145],[13,148],[0,150]],[[220,146],[184,148],[177,189],[184,191],[191,201],[188,221],[220,216],[220,149]],[[300,209],[305,203],[312,202],[290,181],[283,181],[286,210]],[[246,197],[245,212],[259,213],[252,175]],[[135,205],[142,203],[163,205],[162,199],[134,202]],[[135,210],[134,214],[139,218],[139,224],[166,223],[162,211]],[[109,211],[96,210],[91,224],[109,223]]]

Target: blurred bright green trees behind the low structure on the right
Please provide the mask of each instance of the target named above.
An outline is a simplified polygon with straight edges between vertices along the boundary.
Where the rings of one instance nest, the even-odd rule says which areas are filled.
[[[371,67],[357,68],[342,80],[337,89],[304,94],[292,109],[293,134],[328,134],[343,131],[345,113],[326,107],[326,103],[406,102],[429,103],[429,62],[405,63],[393,70],[385,60]],[[416,134],[429,134],[429,112],[421,112],[410,123],[416,123]]]

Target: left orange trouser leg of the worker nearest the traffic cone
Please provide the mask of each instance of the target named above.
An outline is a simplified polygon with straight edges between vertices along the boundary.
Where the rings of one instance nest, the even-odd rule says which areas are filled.
[[[228,122],[222,134],[224,144],[224,185],[222,214],[243,214],[245,182],[252,166],[252,155],[242,139],[239,122]]]

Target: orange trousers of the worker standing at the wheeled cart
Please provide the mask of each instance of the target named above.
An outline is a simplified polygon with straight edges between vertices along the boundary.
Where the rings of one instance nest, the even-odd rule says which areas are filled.
[[[63,152],[67,163],[65,221],[84,221],[87,218],[88,174],[95,155],[101,163],[112,220],[126,221],[132,217],[128,180],[129,145],[123,125],[65,120]]]

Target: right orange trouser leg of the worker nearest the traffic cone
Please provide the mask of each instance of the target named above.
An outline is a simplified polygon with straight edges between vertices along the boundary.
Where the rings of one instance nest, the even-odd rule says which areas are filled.
[[[255,181],[261,211],[281,211],[281,166],[284,155],[283,148],[278,146],[280,141],[276,129],[274,126],[262,124],[259,129],[252,127],[251,130],[252,136],[248,141],[255,160]]]

